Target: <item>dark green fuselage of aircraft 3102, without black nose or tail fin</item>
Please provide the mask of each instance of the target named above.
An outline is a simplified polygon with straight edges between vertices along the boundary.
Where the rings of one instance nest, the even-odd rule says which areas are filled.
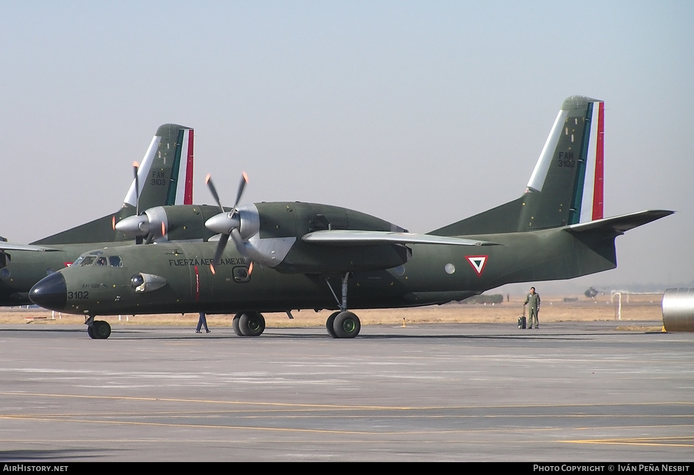
[[[616,267],[614,235],[577,237],[566,228],[554,228],[478,238],[500,245],[482,248],[416,244],[410,246],[412,258],[400,267],[353,272],[348,281],[350,308],[446,303],[505,283],[573,278]],[[64,311],[116,315],[338,308],[325,279],[339,296],[339,274],[285,273],[282,265],[274,269],[256,265],[244,281],[245,274],[241,272],[239,279],[238,269],[248,265],[235,249],[223,254],[212,274],[214,249],[214,243],[103,249],[104,256],[119,256],[123,267],[90,265],[64,269]],[[330,249],[335,253],[349,251]],[[364,247],[359,250],[364,251]],[[481,272],[469,259],[475,257],[484,257]],[[290,252],[286,260],[291,264],[293,258],[296,256]],[[455,267],[453,272],[450,266],[447,272],[449,264]],[[161,276],[167,285],[137,293],[130,285],[130,278],[137,273]]]

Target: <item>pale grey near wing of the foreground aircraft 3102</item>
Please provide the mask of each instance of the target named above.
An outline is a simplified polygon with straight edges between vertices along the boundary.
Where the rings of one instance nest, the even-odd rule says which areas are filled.
[[[496,242],[451,238],[430,234],[397,233],[392,231],[357,231],[328,229],[307,233],[304,242],[331,246],[369,246],[373,244],[454,244],[457,246],[498,246]]]

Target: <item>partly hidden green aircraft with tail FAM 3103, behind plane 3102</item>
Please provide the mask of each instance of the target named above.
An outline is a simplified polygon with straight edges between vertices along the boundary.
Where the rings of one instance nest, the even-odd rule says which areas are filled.
[[[142,165],[136,167],[123,206],[115,213],[30,245],[10,244],[0,238],[0,306],[31,303],[28,292],[32,285],[89,249],[133,244],[129,235],[115,229],[122,219],[140,209],[190,205],[192,199],[193,129],[164,124],[157,129]]]

